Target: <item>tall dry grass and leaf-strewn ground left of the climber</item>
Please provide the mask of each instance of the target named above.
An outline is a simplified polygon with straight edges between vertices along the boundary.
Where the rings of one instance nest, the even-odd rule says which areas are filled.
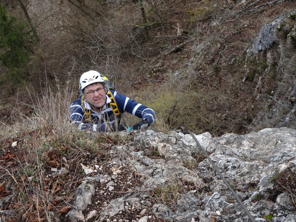
[[[63,180],[57,175],[51,181],[45,171],[50,165],[59,168],[58,157],[69,155],[70,147],[82,136],[69,122],[72,87],[66,83],[56,89],[45,87],[41,94],[28,89],[32,104],[22,105],[33,108],[33,115],[23,115],[12,126],[1,125],[1,189],[6,191],[1,196],[12,195],[4,207],[14,210],[11,221],[19,215],[22,221],[52,221],[50,211]],[[12,146],[13,142],[17,144]],[[49,157],[50,152],[55,157]]]

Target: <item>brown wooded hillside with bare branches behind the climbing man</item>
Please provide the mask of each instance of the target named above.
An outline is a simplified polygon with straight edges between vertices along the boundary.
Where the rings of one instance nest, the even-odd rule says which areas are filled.
[[[73,101],[80,75],[97,70],[169,128],[214,136],[295,128],[295,1],[1,5],[2,126],[31,116],[49,94]],[[261,27],[281,15],[270,28],[274,41],[247,54]]]

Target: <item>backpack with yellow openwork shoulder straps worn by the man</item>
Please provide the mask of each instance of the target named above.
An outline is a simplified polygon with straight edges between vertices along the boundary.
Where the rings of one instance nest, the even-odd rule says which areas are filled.
[[[114,115],[117,117],[117,118],[120,118],[121,116],[121,113],[118,109],[118,106],[116,104],[116,100],[115,100],[115,97],[114,95],[112,94],[112,92],[110,90],[116,90],[115,87],[112,85],[112,83],[109,81],[109,79],[105,76],[105,75],[102,75],[103,79],[104,79],[104,83],[105,83],[105,87],[107,88],[107,96],[109,97],[109,99],[111,99],[111,102],[110,102],[110,106],[111,106],[111,109],[114,113]],[[82,93],[82,89],[81,89],[81,85],[79,84],[79,89],[78,89],[78,93],[77,93],[77,98],[80,98],[82,97],[82,107],[84,109],[84,116],[83,118],[86,120],[86,121],[91,121],[91,110],[88,110],[86,109],[86,107],[84,107],[84,96],[83,96],[83,93]]]

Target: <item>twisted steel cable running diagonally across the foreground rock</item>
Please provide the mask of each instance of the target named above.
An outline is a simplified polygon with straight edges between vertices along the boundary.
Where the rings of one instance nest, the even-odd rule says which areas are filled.
[[[224,178],[224,176],[220,173],[219,169],[217,168],[217,166],[215,165],[215,163],[211,160],[210,156],[207,154],[207,152],[205,151],[204,148],[202,148],[202,146],[200,145],[200,143],[197,141],[196,137],[194,136],[194,134],[190,131],[190,130],[186,130],[186,131],[181,131],[181,133],[189,133],[193,139],[195,140],[196,144],[198,145],[198,147],[201,149],[201,151],[204,153],[204,155],[207,157],[207,159],[210,161],[210,163],[212,164],[213,168],[216,170],[216,172],[218,173],[218,175],[220,176],[220,178],[222,179],[222,181],[224,182],[224,184],[227,186],[227,188],[229,189],[229,191],[232,193],[232,195],[234,196],[235,200],[237,200],[237,202],[242,206],[244,212],[246,212],[246,214],[248,215],[248,217],[250,218],[250,220],[252,222],[255,222],[254,217],[251,215],[250,211],[247,209],[246,205],[243,204],[242,200],[239,198],[239,196],[237,195],[237,193],[234,191],[234,189],[232,189],[232,187],[229,185],[229,183],[227,182],[227,180]]]

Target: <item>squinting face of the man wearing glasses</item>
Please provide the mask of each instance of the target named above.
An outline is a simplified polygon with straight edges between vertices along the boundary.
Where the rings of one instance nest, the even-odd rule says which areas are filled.
[[[106,91],[103,88],[102,83],[93,83],[86,86],[84,94],[87,102],[96,107],[102,107],[106,101]]]

